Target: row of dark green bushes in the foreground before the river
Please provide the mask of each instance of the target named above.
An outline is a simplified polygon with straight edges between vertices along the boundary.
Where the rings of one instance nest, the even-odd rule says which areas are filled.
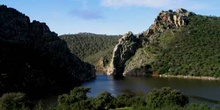
[[[104,91],[97,97],[88,97],[89,88],[76,87],[69,94],[58,97],[56,107],[30,103],[23,93],[8,93],[0,98],[1,110],[218,110],[205,104],[188,104],[181,92],[164,87],[149,93],[125,91],[118,96]]]

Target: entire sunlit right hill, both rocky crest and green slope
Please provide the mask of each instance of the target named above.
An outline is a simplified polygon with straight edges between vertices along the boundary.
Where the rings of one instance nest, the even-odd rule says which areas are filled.
[[[129,51],[121,48],[124,53],[114,52],[109,74],[219,77],[219,33],[219,17],[196,15],[185,9],[162,11],[148,30],[135,36],[141,43],[133,50],[134,54],[118,58],[126,58],[122,67],[117,66],[118,59],[114,56],[125,56]],[[137,42],[125,40],[115,48],[120,49],[118,45],[129,47],[134,43]]]

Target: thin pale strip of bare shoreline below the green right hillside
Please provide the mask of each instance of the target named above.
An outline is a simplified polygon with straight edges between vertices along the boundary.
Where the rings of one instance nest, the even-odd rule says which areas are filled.
[[[220,80],[220,78],[209,77],[209,76],[190,76],[190,75],[167,75],[167,74],[160,74],[158,77],[165,77],[165,78],[183,78],[183,79],[200,79],[200,80]]]

